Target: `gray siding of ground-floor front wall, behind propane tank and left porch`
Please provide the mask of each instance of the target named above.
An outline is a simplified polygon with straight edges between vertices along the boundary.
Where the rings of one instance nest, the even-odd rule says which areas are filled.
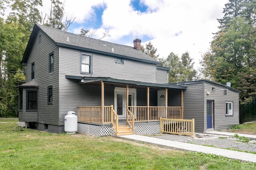
[[[79,106],[101,106],[101,85],[78,83],[78,80],[66,79],[65,75],[60,78],[60,125],[64,125],[68,111],[78,115]],[[114,88],[104,87],[104,105],[114,105]]]

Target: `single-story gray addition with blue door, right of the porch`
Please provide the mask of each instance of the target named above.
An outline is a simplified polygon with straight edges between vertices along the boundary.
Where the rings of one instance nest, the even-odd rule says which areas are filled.
[[[230,84],[208,80],[176,83],[184,91],[184,119],[195,119],[195,131],[220,130],[239,124],[239,93]]]

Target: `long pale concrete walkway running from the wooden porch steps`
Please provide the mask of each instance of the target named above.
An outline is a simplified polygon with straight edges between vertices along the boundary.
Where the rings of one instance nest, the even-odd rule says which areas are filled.
[[[221,135],[221,134],[218,134],[218,135]],[[238,152],[238,151],[233,151],[233,150],[201,146],[201,145],[197,145],[197,144],[176,142],[176,141],[172,141],[172,140],[142,136],[142,135],[137,135],[137,134],[122,135],[122,136],[118,136],[118,137],[125,138],[128,140],[146,142],[149,144],[155,144],[158,146],[163,146],[163,147],[168,147],[168,148],[173,148],[173,149],[178,149],[178,150],[202,152],[205,154],[216,154],[216,155],[221,155],[221,156],[231,158],[231,159],[237,159],[240,161],[256,162],[256,154],[250,154],[250,153],[246,153],[246,152]]]

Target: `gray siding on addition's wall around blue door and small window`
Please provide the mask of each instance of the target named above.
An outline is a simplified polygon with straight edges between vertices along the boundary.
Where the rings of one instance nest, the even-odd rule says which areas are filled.
[[[215,91],[212,90],[212,87],[215,88]],[[226,95],[223,94],[223,86],[216,86],[205,83],[204,85],[205,91],[210,92],[210,95],[206,95],[204,93],[204,121],[206,120],[206,101],[213,100],[214,101],[214,129],[220,130],[224,128],[232,127],[233,125],[239,124],[239,93],[236,93],[232,90],[227,90]],[[233,116],[226,117],[226,102],[233,102]],[[207,123],[204,125],[204,129],[207,129]]]

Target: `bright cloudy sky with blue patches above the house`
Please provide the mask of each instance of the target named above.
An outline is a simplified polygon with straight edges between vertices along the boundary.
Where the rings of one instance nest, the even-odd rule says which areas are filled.
[[[42,0],[43,13],[49,13],[50,0]],[[213,34],[218,31],[217,18],[223,17],[228,0],[60,0],[65,15],[76,17],[68,32],[80,34],[97,29],[92,38],[133,46],[139,38],[149,41],[160,58],[173,52],[181,57],[188,52],[199,67],[202,54],[208,51]]]

